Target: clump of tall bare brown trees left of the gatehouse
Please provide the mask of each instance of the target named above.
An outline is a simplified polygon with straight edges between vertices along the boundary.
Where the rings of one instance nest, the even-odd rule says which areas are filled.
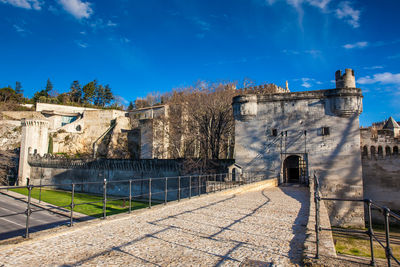
[[[233,84],[198,83],[175,90],[166,100],[170,156],[174,158],[227,158],[233,140]]]

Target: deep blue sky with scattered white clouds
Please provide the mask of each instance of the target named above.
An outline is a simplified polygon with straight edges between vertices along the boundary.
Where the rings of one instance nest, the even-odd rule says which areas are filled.
[[[0,86],[98,79],[125,101],[209,82],[334,88],[353,68],[361,125],[400,120],[400,1],[0,0]]]

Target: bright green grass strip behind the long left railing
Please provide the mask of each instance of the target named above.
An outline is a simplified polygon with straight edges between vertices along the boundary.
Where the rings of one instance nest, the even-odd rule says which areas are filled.
[[[28,195],[28,189],[26,188],[17,188],[11,189],[16,193],[20,193],[23,195]],[[66,206],[71,204],[71,192],[69,191],[61,191],[61,190],[49,190],[42,189],[41,201],[47,202],[56,206]],[[39,199],[39,189],[32,189],[32,198]],[[111,196],[108,196],[111,198]],[[82,204],[77,205],[79,203],[86,202],[95,202],[91,204]],[[89,195],[84,193],[75,193],[74,194],[74,211],[83,213],[93,217],[102,217],[103,216],[103,197],[97,195]],[[154,203],[155,204],[155,203]],[[147,203],[132,201],[132,210],[142,209],[148,207]],[[70,209],[66,207],[66,209]],[[129,210],[129,200],[109,200],[107,201],[107,215],[113,215],[117,213],[127,212]]]

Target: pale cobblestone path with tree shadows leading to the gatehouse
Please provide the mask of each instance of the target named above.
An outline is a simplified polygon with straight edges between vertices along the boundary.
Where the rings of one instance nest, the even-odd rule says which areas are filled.
[[[215,194],[0,248],[0,266],[299,264],[308,190]]]

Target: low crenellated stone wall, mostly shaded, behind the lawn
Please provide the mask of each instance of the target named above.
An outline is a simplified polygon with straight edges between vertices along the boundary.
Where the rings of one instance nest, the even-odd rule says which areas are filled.
[[[128,196],[129,186],[128,182],[118,182],[123,180],[133,179],[132,194],[141,195],[142,198],[148,197],[146,194],[149,189],[149,178],[155,178],[152,181],[152,198],[157,200],[164,200],[165,179],[156,179],[169,177],[168,186],[168,199],[174,200],[178,197],[178,184],[180,183],[182,189],[181,197],[189,195],[189,182],[192,182],[192,187],[196,188],[201,184],[201,192],[206,190],[207,177],[190,179],[190,175],[201,173],[201,170],[196,173],[188,174],[185,170],[184,160],[113,160],[113,159],[66,159],[56,158],[51,155],[41,157],[39,155],[30,155],[30,182],[31,184],[58,184],[57,188],[71,189],[71,183],[87,183],[87,185],[77,185],[78,191],[102,194],[104,179],[107,179],[109,185],[107,192],[109,195],[114,196]],[[216,170],[222,173],[227,169],[227,166],[232,164],[232,160],[220,160],[212,162],[211,165],[220,165],[220,169]],[[178,178],[178,177],[181,178]],[[228,179],[228,174],[226,179]],[[221,175],[218,180],[225,180]],[[214,178],[210,178],[214,180]],[[179,181],[180,180],[180,181]],[[26,181],[25,181],[26,182]],[[94,182],[94,183],[93,183]],[[63,185],[64,184],[64,185]],[[186,188],[186,189],[185,189]],[[194,190],[194,189],[193,189]],[[195,191],[195,190],[194,190]],[[192,192],[196,195],[198,191]]]

